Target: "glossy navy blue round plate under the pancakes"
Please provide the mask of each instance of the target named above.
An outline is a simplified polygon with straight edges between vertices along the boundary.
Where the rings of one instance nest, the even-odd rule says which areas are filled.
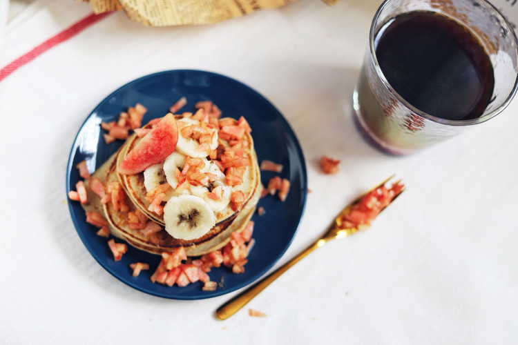
[[[303,152],[289,124],[278,110],[248,86],[212,72],[200,70],[169,70],[157,72],[136,79],[115,90],[106,97],[87,117],[75,138],[66,172],[66,190],[75,190],[76,182],[81,178],[75,166],[83,160],[90,172],[111,156],[122,145],[117,140],[106,145],[102,137],[102,121],[113,121],[119,113],[135,103],[142,103],[148,112],[143,123],[164,116],[169,107],[180,97],[186,97],[188,103],[181,111],[193,111],[197,101],[211,100],[223,112],[224,117],[238,118],[243,115],[252,128],[252,136],[259,161],[269,159],[284,166],[280,177],[291,182],[291,189],[285,202],[278,197],[268,195],[259,201],[265,208],[265,215],[253,216],[256,226],[253,238],[256,244],[249,253],[249,262],[244,266],[244,273],[233,274],[225,267],[213,268],[209,273],[222,287],[215,291],[203,291],[202,283],[189,284],[186,287],[153,284],[149,277],[160,262],[159,255],[152,255],[128,246],[128,252],[122,260],[115,262],[108,248],[107,239],[95,233],[97,228],[85,221],[83,208],[77,201],[68,203],[70,215],[79,237],[91,255],[109,273],[125,284],[144,293],[173,299],[202,299],[215,297],[242,288],[267,272],[285,253],[303,215],[307,197],[307,175]],[[279,175],[274,172],[262,172],[262,183]],[[121,240],[116,239],[116,242]],[[143,271],[138,277],[132,277],[129,265],[133,262],[147,262],[151,270]]]

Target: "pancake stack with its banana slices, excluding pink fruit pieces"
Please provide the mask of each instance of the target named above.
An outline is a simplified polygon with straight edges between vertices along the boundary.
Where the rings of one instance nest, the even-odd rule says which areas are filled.
[[[181,115],[175,115],[175,118],[180,128],[180,139],[185,139],[181,137],[182,127],[195,124],[196,120],[184,120]],[[235,119],[227,118],[220,121],[222,120],[227,124],[238,123]],[[184,121],[183,124],[182,121]],[[217,146],[220,154],[225,150],[232,150],[236,140],[218,136],[218,129],[215,132],[214,138],[217,145],[213,147]],[[117,168],[128,152],[131,152],[142,140],[135,134],[128,137],[121,148],[92,175],[104,183],[108,194],[111,186],[122,186],[119,193],[120,200],[117,203],[102,201],[99,195],[89,190],[89,202],[84,205],[85,210],[96,210],[104,215],[112,235],[149,253],[170,253],[182,246],[186,255],[198,256],[222,248],[229,242],[231,233],[244,229],[256,210],[262,192],[253,139],[249,131],[246,131],[239,141],[241,162],[246,161],[246,165],[240,169],[242,174],[240,184],[230,183],[230,181],[227,183],[225,168],[220,161],[217,161],[218,158],[215,155],[198,155],[196,161],[202,161],[200,170],[207,172],[211,179],[191,182],[187,187],[183,184],[181,190],[180,181],[178,181],[179,172],[186,170],[185,162],[189,161],[191,156],[186,155],[186,151],[182,150],[185,147],[184,144],[180,144],[180,139],[175,151],[164,161],[153,164],[143,172],[126,175],[119,172]],[[188,147],[187,151],[189,150]],[[153,201],[149,197],[151,190],[157,186],[161,186],[162,190],[166,186],[166,197],[160,201],[158,208],[160,212],[156,211],[157,208],[153,208]],[[212,193],[215,192],[216,187],[219,187],[217,196]],[[238,204],[231,200],[235,192],[242,192],[239,194],[244,197]],[[207,214],[209,210],[210,215]],[[135,221],[135,215],[137,221]],[[207,219],[209,219],[208,222]],[[207,226],[207,224],[210,225]],[[175,234],[180,235],[174,236]]]

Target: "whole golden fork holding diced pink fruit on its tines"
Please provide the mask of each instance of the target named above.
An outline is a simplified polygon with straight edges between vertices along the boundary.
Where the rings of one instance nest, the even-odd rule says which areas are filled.
[[[347,205],[347,207],[345,207],[342,210],[342,212],[340,212],[340,214],[334,219],[334,223],[332,224],[332,226],[329,227],[329,230],[327,230],[327,232],[324,233],[324,235],[322,235],[319,239],[317,239],[315,242],[313,242],[311,245],[309,245],[307,248],[305,248],[305,250],[298,253],[298,255],[296,255],[293,259],[289,260],[289,262],[280,266],[280,268],[278,268],[274,272],[267,275],[267,277],[261,279],[260,282],[254,284],[250,288],[247,288],[247,290],[244,290],[242,293],[240,293],[239,295],[236,295],[236,297],[233,297],[227,303],[220,306],[220,308],[218,308],[218,310],[215,312],[215,316],[220,320],[224,320],[224,319],[231,317],[237,311],[239,311],[245,304],[250,302],[250,300],[253,297],[256,297],[256,295],[258,295],[262,290],[264,290],[267,286],[269,286],[269,284],[271,284],[271,282],[274,282],[275,279],[280,277],[280,275],[282,275],[282,273],[285,273],[288,270],[288,268],[290,268],[291,266],[294,266],[294,264],[299,262],[300,259],[303,259],[303,257],[305,257],[306,255],[311,253],[316,248],[320,248],[321,246],[323,246],[327,242],[331,241],[332,239],[341,239],[343,237],[356,233],[358,230],[364,230],[364,229],[368,228],[370,226],[369,224],[361,224],[359,226],[350,226],[349,224],[347,224],[346,222],[343,221],[342,216],[345,214],[348,214],[350,212],[350,210],[356,204],[358,204],[365,195],[371,193],[373,190],[376,190],[378,188],[385,186],[385,184],[387,184],[387,182],[390,181],[390,179],[392,179],[392,177],[394,177],[394,175],[392,175],[388,179],[385,179],[385,181],[381,182],[381,184],[378,184],[378,186],[372,188],[371,190],[368,190],[367,192],[363,193],[363,195],[359,196],[354,201],[352,201],[352,203]],[[392,186],[396,186],[396,184],[401,184],[401,181],[394,182],[394,184],[392,184]],[[396,195],[394,195],[394,197],[392,197],[392,200],[390,200],[390,202],[387,205],[385,205],[383,208],[381,208],[381,210],[379,212],[384,210],[390,203],[392,203],[392,201],[394,201],[394,199],[396,199],[396,197],[399,197],[399,195],[401,195],[401,193],[403,193],[403,190],[404,190],[404,187],[401,188],[401,190],[399,190],[396,193]]]

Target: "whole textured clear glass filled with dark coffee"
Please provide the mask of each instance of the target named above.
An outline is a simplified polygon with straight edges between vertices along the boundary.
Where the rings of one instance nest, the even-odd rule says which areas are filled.
[[[518,86],[515,32],[485,0],[386,0],[354,90],[354,121],[406,155],[499,114]]]

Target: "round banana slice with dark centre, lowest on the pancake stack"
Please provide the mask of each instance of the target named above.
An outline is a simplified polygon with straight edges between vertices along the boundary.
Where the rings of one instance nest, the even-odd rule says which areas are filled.
[[[197,239],[215,226],[209,204],[195,195],[171,197],[164,206],[165,229],[177,239]]]

